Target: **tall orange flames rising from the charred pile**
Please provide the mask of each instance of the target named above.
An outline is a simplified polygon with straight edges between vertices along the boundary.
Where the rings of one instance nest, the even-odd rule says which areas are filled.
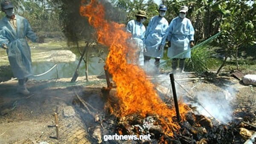
[[[81,3],[80,14],[88,17],[89,23],[96,29],[98,42],[110,47],[106,66],[116,83],[119,99],[119,104],[112,106],[114,113],[120,117],[134,113],[143,117],[147,114],[158,115],[165,133],[172,136],[172,130],[180,128],[172,120],[176,116],[175,108],[170,109],[159,98],[143,69],[128,63],[127,54],[132,51],[128,43],[131,35],[125,31],[125,25],[105,20],[104,6],[96,0],[91,0],[86,6],[83,5],[86,0]],[[179,104],[179,108],[184,120],[188,109],[185,104]]]

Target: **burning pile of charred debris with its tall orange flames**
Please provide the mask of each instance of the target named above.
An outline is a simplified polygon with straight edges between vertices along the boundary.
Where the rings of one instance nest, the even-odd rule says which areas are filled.
[[[125,31],[125,25],[105,20],[104,6],[96,0],[89,4],[82,0],[80,14],[96,29],[98,42],[109,47],[105,69],[116,83],[113,95],[116,101],[109,102],[108,107],[115,118],[109,121],[118,118],[119,134],[150,133],[157,142],[175,143],[179,139],[176,142],[184,144],[229,143],[227,140],[235,139],[234,135],[239,133],[236,126],[241,121],[230,127],[214,127],[209,118],[189,112],[189,106],[183,103],[179,104],[181,121],[178,122],[175,108],[160,99],[143,69],[128,62],[128,59],[133,61],[134,51],[128,43],[131,35]]]

